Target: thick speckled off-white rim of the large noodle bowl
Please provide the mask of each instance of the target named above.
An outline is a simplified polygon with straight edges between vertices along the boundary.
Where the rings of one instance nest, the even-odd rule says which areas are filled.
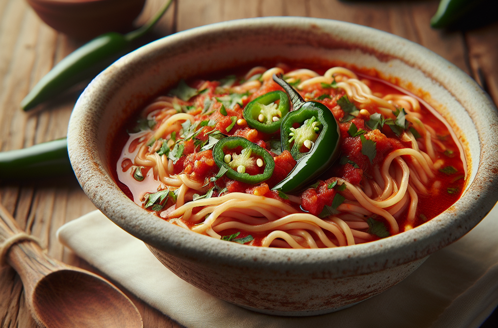
[[[374,242],[325,249],[263,248],[229,243],[193,233],[170,224],[136,206],[118,188],[105,171],[98,152],[97,127],[101,113],[95,99],[106,101],[112,92],[106,88],[113,79],[155,49],[192,37],[213,35],[231,28],[336,28],[361,38],[362,48],[372,48],[403,61],[392,49],[378,49],[379,39],[403,47],[412,57],[409,66],[432,77],[440,67],[448,67],[444,86],[461,104],[473,104],[466,109],[479,135],[481,155],[474,181],[464,195],[449,210],[412,230]],[[350,34],[351,35],[351,34]],[[405,52],[405,53],[406,53]],[[430,60],[427,60],[429,58]],[[106,87],[107,86],[107,87]],[[109,88],[108,88],[109,89]],[[110,88],[112,91],[112,87]],[[107,90],[103,95],[102,90]],[[100,99],[100,100],[99,100]],[[93,105],[93,106],[92,106]],[[479,109],[479,110],[478,110]],[[231,263],[252,269],[267,267],[275,272],[294,273],[327,271],[334,276],[367,274],[421,259],[463,236],[483,219],[498,198],[498,118],[494,104],[467,74],[428,49],[401,37],[356,24],[319,18],[265,17],[241,19],[179,32],[154,41],[128,54],[101,73],[85,90],[71,115],[68,130],[68,151],[75,174],[92,202],[124,230],[162,251],[174,256],[212,264]],[[474,160],[473,165],[477,165]]]

